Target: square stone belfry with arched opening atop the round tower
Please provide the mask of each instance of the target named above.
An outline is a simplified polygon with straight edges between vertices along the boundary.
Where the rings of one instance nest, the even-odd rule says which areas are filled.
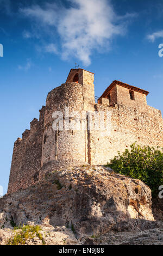
[[[83,105],[85,111],[93,111],[95,105],[94,73],[84,69],[71,69],[66,83],[76,82],[83,86]]]

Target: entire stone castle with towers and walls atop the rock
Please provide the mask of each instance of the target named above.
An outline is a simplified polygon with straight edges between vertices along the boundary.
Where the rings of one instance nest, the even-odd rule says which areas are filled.
[[[30,130],[24,131],[14,144],[8,193],[32,186],[52,170],[105,164],[135,141],[163,146],[162,115],[147,105],[146,90],[113,81],[96,102],[93,82],[92,72],[71,69],[66,83],[48,93],[39,120],[34,118]],[[60,111],[65,119],[65,107],[70,114],[109,112],[110,133],[89,129],[88,118],[81,117],[78,120],[85,129],[54,131],[53,113]],[[69,123],[72,121],[72,117],[68,118]]]

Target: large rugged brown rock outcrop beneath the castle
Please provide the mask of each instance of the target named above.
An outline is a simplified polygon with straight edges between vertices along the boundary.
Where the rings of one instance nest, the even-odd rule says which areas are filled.
[[[46,174],[33,187],[0,199],[0,228],[4,229],[0,244],[4,241],[2,234],[7,232],[5,228],[11,229],[11,220],[16,225],[74,229],[81,241],[85,241],[82,237],[102,236],[111,231],[161,228],[162,223],[154,221],[151,205],[148,186],[109,168],[60,170]]]

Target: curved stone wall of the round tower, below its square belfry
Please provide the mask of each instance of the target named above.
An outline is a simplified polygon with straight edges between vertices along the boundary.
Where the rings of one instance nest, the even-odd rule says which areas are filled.
[[[53,113],[55,111],[62,113],[65,122],[65,107],[68,107],[70,112],[70,119],[66,120],[68,124],[75,122],[71,119],[72,116],[76,117],[80,125],[81,120],[78,113],[83,111],[82,84],[73,82],[62,84],[47,96],[40,177],[45,170],[48,172],[85,163],[87,154],[85,153],[85,147],[87,147],[85,145],[85,130],[65,130],[65,123],[62,131],[58,128],[56,131],[53,130],[53,122],[57,120],[57,114],[54,118]],[[78,112],[77,115],[74,113],[75,111]]]

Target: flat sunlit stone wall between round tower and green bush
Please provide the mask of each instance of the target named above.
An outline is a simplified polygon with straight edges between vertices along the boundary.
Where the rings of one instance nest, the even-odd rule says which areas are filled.
[[[91,164],[105,164],[117,152],[130,149],[134,142],[160,148],[163,146],[163,121],[158,109],[134,108],[125,105],[105,107],[96,105],[96,111],[109,111],[110,134],[103,131],[91,132]]]

